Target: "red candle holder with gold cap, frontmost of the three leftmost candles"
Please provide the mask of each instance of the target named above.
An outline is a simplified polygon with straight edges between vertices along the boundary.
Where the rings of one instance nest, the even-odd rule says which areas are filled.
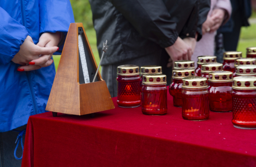
[[[142,112],[146,115],[167,113],[166,76],[162,74],[144,75],[142,87]]]

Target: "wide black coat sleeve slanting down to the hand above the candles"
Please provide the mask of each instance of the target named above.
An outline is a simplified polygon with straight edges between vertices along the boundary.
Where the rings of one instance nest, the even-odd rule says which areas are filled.
[[[168,47],[178,38],[176,22],[161,0],[111,0],[113,6],[135,27],[141,36]]]

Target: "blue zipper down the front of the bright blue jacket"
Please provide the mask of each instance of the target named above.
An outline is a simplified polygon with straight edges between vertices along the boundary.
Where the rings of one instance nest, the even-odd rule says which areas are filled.
[[[26,27],[25,10],[24,10],[24,0],[21,0],[21,16],[22,16],[23,26],[25,26],[25,28],[27,28]],[[34,93],[34,90],[32,89],[32,81],[30,78],[30,72],[26,72],[26,74],[27,74],[27,80],[29,81],[29,88],[30,88],[30,92],[31,92],[31,96],[32,96],[32,102],[34,105],[35,114],[38,114],[38,109],[37,109],[36,100],[35,100],[35,93]]]

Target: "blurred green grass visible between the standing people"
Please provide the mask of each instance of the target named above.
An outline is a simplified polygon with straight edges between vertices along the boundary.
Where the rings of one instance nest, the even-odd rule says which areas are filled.
[[[99,63],[99,53],[97,50],[96,32],[93,28],[92,11],[88,0],[70,0],[72,4],[75,22],[82,22],[84,29],[92,47],[93,55]],[[250,26],[242,27],[238,50],[243,52],[243,57],[246,57],[246,47],[256,47],[256,0],[252,0],[253,13],[249,19]],[[107,39],[106,39],[107,40]],[[108,41],[111,42],[111,41]],[[102,53],[100,53],[102,54]],[[54,55],[54,63],[57,70],[59,65],[60,55]],[[101,71],[101,69],[100,69]]]

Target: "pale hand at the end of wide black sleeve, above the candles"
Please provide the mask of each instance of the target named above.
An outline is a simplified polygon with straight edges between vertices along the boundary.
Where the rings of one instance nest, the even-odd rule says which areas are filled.
[[[166,47],[165,50],[173,62],[177,60],[189,60],[192,56],[191,47],[189,47],[180,37],[177,38],[172,46]]]

